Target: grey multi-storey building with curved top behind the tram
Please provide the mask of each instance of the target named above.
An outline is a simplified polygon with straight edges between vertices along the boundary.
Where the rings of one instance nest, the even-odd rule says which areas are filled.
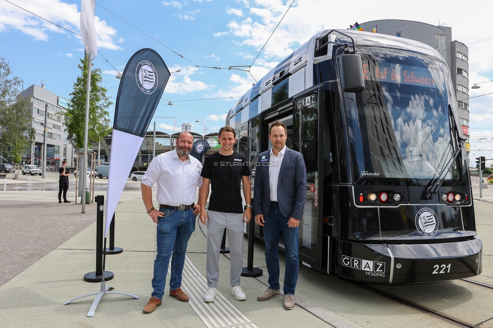
[[[377,33],[405,37],[423,42],[435,48],[447,62],[452,82],[455,85],[455,95],[462,132],[466,138],[467,158],[469,158],[469,64],[468,47],[459,41],[452,40],[452,28],[434,26],[422,22],[398,19],[369,21],[359,24],[364,31],[372,31],[377,26]]]

